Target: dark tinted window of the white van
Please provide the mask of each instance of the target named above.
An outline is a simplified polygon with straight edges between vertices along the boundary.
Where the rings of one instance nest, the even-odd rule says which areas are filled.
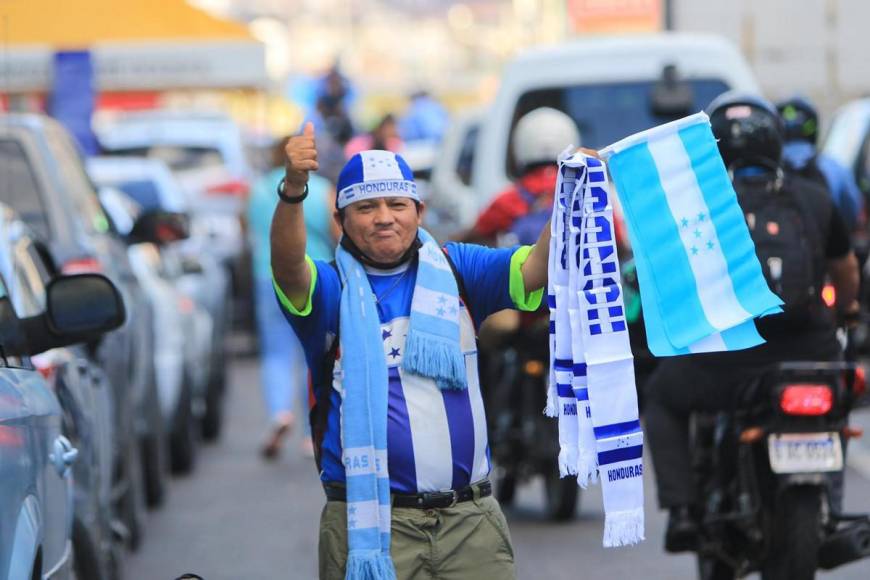
[[[704,109],[729,88],[719,79],[685,79],[681,83],[691,88],[693,106],[689,113]],[[511,134],[513,125],[529,111],[553,107],[574,119],[584,147],[601,149],[638,131],[674,120],[674,117],[655,114],[652,106],[655,86],[654,81],[639,81],[530,91],[517,102]],[[508,175],[516,177],[511,151],[509,144],[507,171]]]

